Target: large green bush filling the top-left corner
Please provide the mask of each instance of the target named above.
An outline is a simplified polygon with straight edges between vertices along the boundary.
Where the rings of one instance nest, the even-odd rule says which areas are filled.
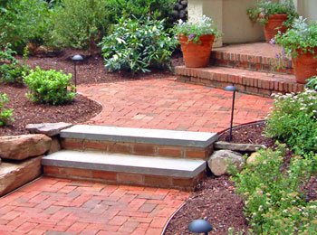
[[[50,12],[43,0],[11,0],[0,5],[2,44],[12,43],[23,52],[27,42],[42,44],[48,35]]]

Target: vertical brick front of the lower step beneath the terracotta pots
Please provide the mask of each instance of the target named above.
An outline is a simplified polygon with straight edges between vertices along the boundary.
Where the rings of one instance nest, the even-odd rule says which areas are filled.
[[[253,77],[216,73],[199,69],[177,67],[176,74],[179,81],[189,82],[209,87],[224,89],[228,85],[235,85],[240,91],[248,94],[270,97],[272,93],[290,93],[303,90],[304,85],[283,80],[259,80]]]

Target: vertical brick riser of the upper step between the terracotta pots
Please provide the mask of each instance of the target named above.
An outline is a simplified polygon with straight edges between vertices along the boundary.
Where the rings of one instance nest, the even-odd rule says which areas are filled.
[[[210,65],[223,66],[228,68],[244,69],[249,71],[268,71],[284,74],[293,74],[292,61],[280,60],[283,68],[277,69],[272,58],[262,56],[251,56],[226,52],[212,52]]]

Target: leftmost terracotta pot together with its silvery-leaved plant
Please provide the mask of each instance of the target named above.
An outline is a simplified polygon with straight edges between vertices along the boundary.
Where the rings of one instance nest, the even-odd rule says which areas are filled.
[[[222,35],[214,21],[206,15],[195,23],[179,20],[173,31],[178,36],[185,65],[188,68],[206,67],[213,43]]]

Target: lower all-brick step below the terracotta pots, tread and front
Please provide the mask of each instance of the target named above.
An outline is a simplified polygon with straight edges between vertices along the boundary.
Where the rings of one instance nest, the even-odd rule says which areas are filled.
[[[185,81],[223,89],[234,84],[240,92],[271,96],[272,93],[289,93],[303,90],[303,84],[296,82],[294,75],[276,74],[264,71],[246,71],[235,68],[211,66],[207,68],[186,68],[178,66],[175,73],[179,81]]]

